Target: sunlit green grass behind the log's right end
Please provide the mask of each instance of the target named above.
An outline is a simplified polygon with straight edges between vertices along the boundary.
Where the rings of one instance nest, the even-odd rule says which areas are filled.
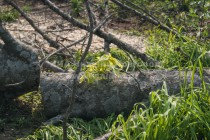
[[[188,37],[182,41],[160,29],[148,31],[147,36],[147,54],[157,60],[161,68],[192,68],[197,59],[210,50],[207,42]],[[200,60],[204,67],[210,66],[206,55]]]

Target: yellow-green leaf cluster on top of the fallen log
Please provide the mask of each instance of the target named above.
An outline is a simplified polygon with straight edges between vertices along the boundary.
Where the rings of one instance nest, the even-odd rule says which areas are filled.
[[[80,82],[87,79],[89,83],[92,83],[95,80],[102,79],[100,75],[109,72],[118,75],[122,68],[123,65],[116,58],[112,57],[111,54],[104,54],[97,58],[97,62],[87,65],[87,69],[85,70],[84,75],[80,78]]]

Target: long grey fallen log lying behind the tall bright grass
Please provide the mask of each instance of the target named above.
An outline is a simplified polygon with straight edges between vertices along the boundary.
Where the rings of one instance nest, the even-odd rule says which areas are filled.
[[[68,96],[72,94],[72,75],[45,73],[41,76],[41,92],[47,116],[53,117],[65,111]],[[94,118],[111,113],[128,113],[135,103],[147,100],[150,91],[161,89],[163,81],[166,81],[170,94],[177,94],[180,82],[185,77],[184,72],[181,72],[181,77],[179,75],[178,71],[154,70],[112,76],[93,84],[82,83],[78,87],[71,117]],[[208,83],[209,78],[210,71],[206,71],[205,81]],[[188,84],[191,82],[191,72],[187,73],[186,81]],[[198,74],[195,74],[194,84],[201,84]]]

